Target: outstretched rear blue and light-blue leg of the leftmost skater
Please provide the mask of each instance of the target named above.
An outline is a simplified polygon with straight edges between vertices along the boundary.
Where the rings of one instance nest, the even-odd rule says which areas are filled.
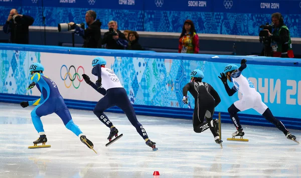
[[[70,111],[67,108],[67,106],[63,107],[60,110],[57,110],[55,113],[62,119],[66,128],[71,130],[74,134],[76,134],[76,136],[79,136],[79,134],[82,133],[80,128],[73,122]]]

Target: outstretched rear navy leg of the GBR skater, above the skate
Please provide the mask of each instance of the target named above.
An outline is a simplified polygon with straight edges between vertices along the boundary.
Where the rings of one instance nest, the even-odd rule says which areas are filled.
[[[127,95],[126,95],[126,97],[124,97],[122,99],[121,102],[119,102],[117,104],[117,106],[120,107],[123,110],[123,112],[126,114],[126,116],[127,116],[128,120],[130,121],[130,123],[136,128],[139,135],[145,141],[147,141],[148,135],[147,135],[144,127],[142,126],[142,124],[137,120],[135,110],[134,110],[132,104],[130,103]]]

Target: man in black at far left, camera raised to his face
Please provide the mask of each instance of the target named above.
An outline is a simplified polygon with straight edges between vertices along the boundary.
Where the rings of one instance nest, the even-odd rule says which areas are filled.
[[[21,15],[13,8],[8,20],[3,26],[5,33],[11,33],[11,43],[28,44],[29,26],[34,23],[34,18],[29,15]]]

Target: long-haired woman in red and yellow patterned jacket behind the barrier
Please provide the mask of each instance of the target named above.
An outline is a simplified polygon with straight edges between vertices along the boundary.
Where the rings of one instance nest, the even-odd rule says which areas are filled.
[[[199,53],[199,36],[191,20],[186,20],[179,38],[179,53]]]

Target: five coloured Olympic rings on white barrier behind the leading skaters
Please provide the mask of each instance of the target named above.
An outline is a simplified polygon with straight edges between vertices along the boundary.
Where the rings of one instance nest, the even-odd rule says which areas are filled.
[[[65,72],[65,74],[64,74],[64,77],[63,77],[63,75],[62,75],[62,68],[66,68],[66,72]],[[71,72],[72,72],[72,68],[74,69],[74,74],[72,75],[71,74]],[[85,73],[85,69],[84,69],[84,67],[82,67],[82,66],[79,66],[79,67],[77,67],[77,69],[75,68],[75,66],[74,65],[71,65],[70,67],[69,67],[69,69],[68,69],[68,67],[66,66],[66,65],[62,65],[61,66],[61,71],[60,71],[60,74],[61,74],[61,78],[62,78],[62,80],[64,80],[64,83],[65,83],[65,86],[67,87],[67,88],[70,88],[70,86],[71,86],[71,84],[74,86],[74,88],[79,88],[79,85],[80,85],[80,82],[82,82],[83,80],[84,80],[84,78],[80,78],[80,74],[78,73],[78,70],[79,69],[82,69],[83,70],[83,73]],[[70,71],[71,70],[71,71]],[[67,85],[66,84],[66,80],[69,78],[69,80],[70,80],[70,84],[69,85]],[[77,80],[79,81],[79,84],[78,84],[78,86],[75,86],[74,85],[74,80],[77,78]]]

